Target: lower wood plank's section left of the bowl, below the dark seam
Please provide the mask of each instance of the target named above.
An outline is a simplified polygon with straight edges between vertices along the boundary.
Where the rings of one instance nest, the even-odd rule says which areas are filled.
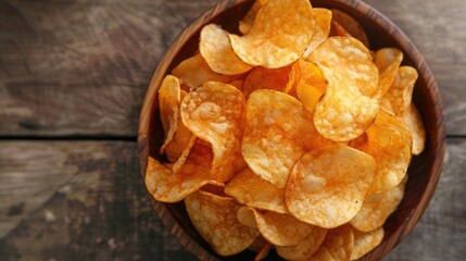
[[[135,142],[2,141],[0,199],[2,261],[193,259],[155,217]]]

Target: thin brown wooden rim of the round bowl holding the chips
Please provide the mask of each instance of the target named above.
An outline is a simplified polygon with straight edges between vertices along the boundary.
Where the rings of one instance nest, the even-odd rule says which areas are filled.
[[[163,77],[159,77],[161,73],[164,75],[168,69],[169,62],[175,58],[177,51],[189,41],[191,38],[192,32],[198,32],[204,26],[211,18],[217,16],[225,10],[229,8],[234,8],[237,4],[252,2],[254,0],[224,0],[221,3],[214,5],[210,10],[203,12],[198,18],[192,21],[188,26],[186,26],[181,33],[177,36],[177,38],[171,44],[169,48],[165,51],[163,58],[159,61],[158,67],[154,71],[149,87],[146,91],[146,96],[143,99],[143,103],[141,107],[141,113],[139,116],[138,124],[138,152],[139,152],[139,162],[140,162],[140,171],[142,177],[146,175],[147,162],[149,157],[149,122],[150,117],[153,115],[153,109],[155,108],[154,99],[155,94],[159,89],[159,85],[162,82]],[[311,0],[312,2],[312,0]],[[404,32],[399,28],[391,20],[389,20],[386,15],[380,13],[378,10],[373,8],[371,5],[357,0],[331,0],[329,2],[341,4],[345,8],[352,9],[355,12],[366,13],[364,15],[368,16],[369,20],[375,23],[381,24],[386,28],[392,28],[389,34],[392,35],[394,40],[402,47],[402,49],[407,50],[405,53],[410,57],[414,66],[419,72],[419,75],[424,75],[426,77],[426,87],[428,88],[428,92],[431,95],[432,99],[434,99],[436,108],[433,110],[434,119],[437,119],[437,135],[436,140],[436,150],[439,151],[439,160],[436,162],[437,164],[432,165],[432,176],[428,181],[426,189],[421,194],[419,203],[413,209],[413,211],[408,214],[410,221],[404,222],[396,232],[392,235],[394,237],[393,240],[390,240],[389,244],[386,244],[383,248],[377,247],[377,252],[374,250],[367,253],[362,260],[379,260],[385,257],[388,252],[390,252],[398,244],[400,244],[413,229],[414,226],[419,221],[420,216],[424,214],[427,204],[429,203],[431,197],[433,196],[434,188],[440,178],[440,174],[442,172],[443,166],[443,158],[445,153],[445,123],[444,123],[444,114],[443,114],[443,103],[440,97],[439,87],[433,77],[433,74],[427,64],[424,57],[420,54],[416,46],[411,41],[411,39],[404,34]],[[196,240],[193,240],[181,227],[172,213],[167,210],[165,203],[159,202],[153,199],[153,197],[149,194],[148,196],[151,198],[151,203],[155,209],[159,217],[164,223],[165,227],[169,231],[172,235],[174,235],[177,240],[191,253],[198,257],[201,260],[218,260],[215,256],[210,253],[206,249],[200,246]]]

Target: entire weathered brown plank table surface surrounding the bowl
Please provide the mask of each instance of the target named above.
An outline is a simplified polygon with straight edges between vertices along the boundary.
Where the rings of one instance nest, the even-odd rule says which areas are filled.
[[[161,55],[217,0],[0,0],[0,260],[194,260],[151,210],[136,135]],[[444,102],[429,208],[385,260],[466,256],[466,1],[370,4],[418,46]]]

